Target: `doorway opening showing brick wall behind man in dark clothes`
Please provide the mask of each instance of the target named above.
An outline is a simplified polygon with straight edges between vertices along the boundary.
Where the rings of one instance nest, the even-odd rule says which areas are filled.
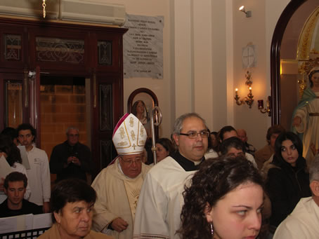
[[[91,148],[89,79],[41,74],[41,147],[48,156],[65,142],[69,127],[79,129],[79,142]]]

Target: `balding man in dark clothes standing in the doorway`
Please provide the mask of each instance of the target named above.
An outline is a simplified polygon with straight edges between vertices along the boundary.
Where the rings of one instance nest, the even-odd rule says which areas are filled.
[[[88,146],[79,142],[79,130],[67,128],[67,141],[53,148],[50,158],[50,171],[56,174],[56,182],[76,178],[86,181],[86,173],[93,173],[93,161]]]

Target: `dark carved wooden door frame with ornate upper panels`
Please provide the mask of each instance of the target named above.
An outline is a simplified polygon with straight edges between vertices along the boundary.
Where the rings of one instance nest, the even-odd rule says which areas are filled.
[[[42,73],[92,79],[90,107],[93,159],[100,170],[115,157],[112,130],[123,115],[122,36],[126,31],[124,28],[101,25],[0,18],[0,74],[19,74],[22,81],[23,123],[31,121],[37,128],[37,144],[41,144],[41,67]],[[12,39],[8,39],[11,35]],[[38,41],[39,38],[44,41]],[[18,57],[11,58],[10,54]],[[29,70],[36,68],[36,77],[29,78]],[[4,77],[1,77],[0,93],[3,95]],[[105,98],[105,90],[110,90],[112,94]],[[0,97],[0,113],[4,114],[3,97]],[[0,119],[1,128],[4,128],[4,118]]]

